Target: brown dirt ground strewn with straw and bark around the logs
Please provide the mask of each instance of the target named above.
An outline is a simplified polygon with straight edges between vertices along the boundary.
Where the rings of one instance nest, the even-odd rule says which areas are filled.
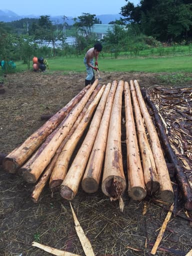
[[[101,72],[100,75],[103,84],[115,79],[138,79],[140,87],[145,88],[155,84],[181,85],[166,84],[160,81],[159,74],[151,73]],[[84,77],[85,73],[64,75],[50,71],[8,74],[4,78],[5,93],[0,94],[0,151],[11,152],[44,123],[40,120],[42,114],[55,113],[62,108],[84,87]],[[191,84],[186,81],[182,86]],[[85,255],[74,229],[69,202],[59,193],[51,195],[46,186],[35,204],[30,198],[32,188],[33,185],[22,177],[7,173],[1,167],[0,255],[50,255],[31,246],[32,241]],[[152,197],[133,201],[127,192],[123,201],[124,210],[120,212],[118,202],[111,202],[100,186],[93,194],[80,188],[72,200],[80,225],[97,256],[151,255],[169,205]],[[182,200],[178,199],[156,255],[185,255],[192,248],[191,223]]]

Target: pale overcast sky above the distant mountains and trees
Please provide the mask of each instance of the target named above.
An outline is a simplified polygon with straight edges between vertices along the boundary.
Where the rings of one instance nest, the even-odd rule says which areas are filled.
[[[140,0],[130,0],[135,5]],[[0,0],[0,10],[11,10],[18,15],[65,15],[76,17],[90,14],[117,14],[125,0]]]

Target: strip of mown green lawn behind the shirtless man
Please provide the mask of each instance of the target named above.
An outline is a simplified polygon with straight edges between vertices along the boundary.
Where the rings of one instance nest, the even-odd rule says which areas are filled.
[[[56,57],[47,59],[49,71],[75,71],[85,70],[83,56]],[[191,56],[169,56],[152,58],[98,58],[100,71],[144,71],[144,72],[192,72]],[[32,61],[31,61],[32,68]],[[26,64],[16,62],[18,71],[26,70]]]

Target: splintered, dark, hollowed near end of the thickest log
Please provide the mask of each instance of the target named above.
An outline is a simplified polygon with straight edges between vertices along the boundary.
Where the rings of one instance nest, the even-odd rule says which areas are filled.
[[[108,176],[102,181],[102,192],[109,196],[112,200],[117,200],[122,196],[125,188],[126,181],[120,176]]]

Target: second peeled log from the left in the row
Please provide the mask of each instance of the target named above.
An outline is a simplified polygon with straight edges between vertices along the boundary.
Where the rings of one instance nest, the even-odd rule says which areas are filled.
[[[27,182],[35,183],[37,181],[45,167],[50,162],[54,153],[58,149],[62,140],[67,136],[68,132],[70,131],[76,118],[78,117],[79,113],[86,104],[90,94],[96,87],[97,83],[98,79],[94,81],[94,83],[91,85],[89,90],[84,94],[84,96],[81,98],[78,104],[76,104],[76,106],[67,114],[65,119],[56,129],[56,131],[53,132],[53,134],[49,135],[50,139],[49,137],[47,137],[47,141],[45,140],[45,142],[38,148],[38,150],[35,152],[35,157],[29,159],[29,161],[27,161],[22,166],[21,171],[23,172],[23,178]]]

